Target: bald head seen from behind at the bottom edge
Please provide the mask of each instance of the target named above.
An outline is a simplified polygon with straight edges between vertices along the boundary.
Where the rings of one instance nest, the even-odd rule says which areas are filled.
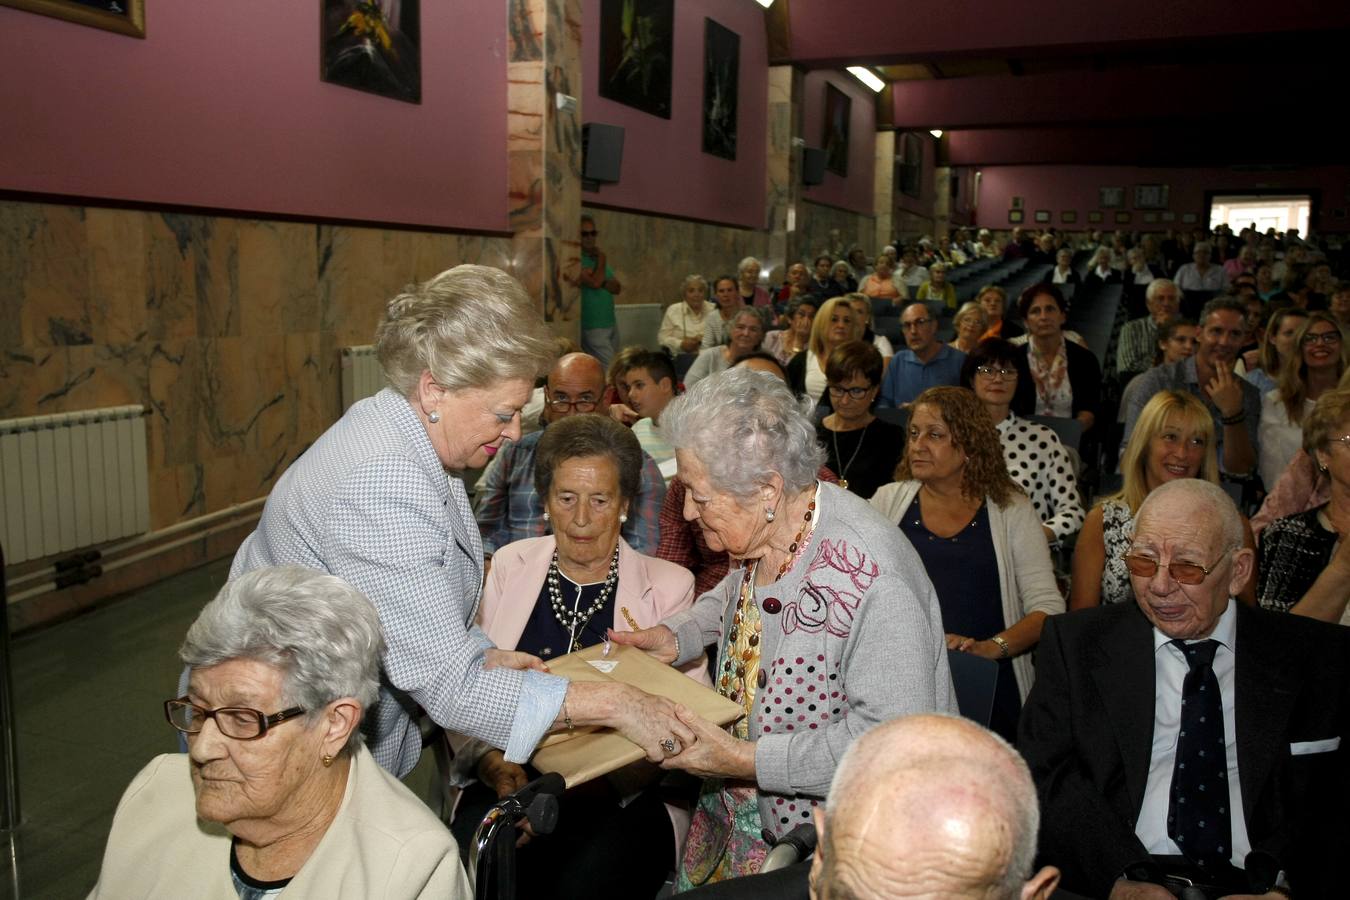
[[[1040,811],[1022,757],[960,718],[911,715],[867,733],[840,762],[811,868],[817,900],[1041,897]]]

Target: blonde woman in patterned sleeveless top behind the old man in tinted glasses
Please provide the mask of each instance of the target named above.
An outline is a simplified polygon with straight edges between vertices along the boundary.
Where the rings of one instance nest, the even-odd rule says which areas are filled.
[[[1120,490],[1088,511],[1073,545],[1071,610],[1130,599],[1130,576],[1122,555],[1130,544],[1139,505],[1156,488],[1180,478],[1218,484],[1214,443],[1214,420],[1193,394],[1164,390],[1149,398],[1120,453]],[[1256,545],[1250,532],[1246,545]],[[1253,602],[1254,588],[1254,583],[1245,588],[1246,602]]]

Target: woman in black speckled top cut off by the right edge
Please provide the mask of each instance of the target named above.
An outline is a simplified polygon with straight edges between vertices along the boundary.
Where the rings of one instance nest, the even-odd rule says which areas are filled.
[[[1350,389],[1327,391],[1303,425],[1303,444],[1316,460],[1319,503],[1277,518],[1261,532],[1257,602],[1350,625]],[[1324,487],[1322,487],[1324,484]],[[1310,491],[1311,494],[1311,491]],[[1265,511],[1262,509],[1262,511]],[[1254,524],[1254,522],[1253,522]]]

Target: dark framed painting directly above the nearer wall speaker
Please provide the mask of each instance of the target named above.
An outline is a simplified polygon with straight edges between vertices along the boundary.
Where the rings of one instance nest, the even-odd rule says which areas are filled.
[[[601,0],[599,96],[671,117],[675,0]]]

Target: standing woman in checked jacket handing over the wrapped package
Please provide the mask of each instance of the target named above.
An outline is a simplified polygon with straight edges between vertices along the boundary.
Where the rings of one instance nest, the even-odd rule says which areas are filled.
[[[610,725],[660,760],[691,737],[674,704],[568,683],[498,650],[474,625],[483,546],[463,470],[520,440],[520,409],[554,340],[510,275],[456,266],[394,297],[375,332],[389,387],[359,401],[277,482],[231,578],[298,564],[338,575],[379,610],[389,642],[367,731],[402,777],[423,752],[420,707],[443,729],[524,762],[552,727]]]

